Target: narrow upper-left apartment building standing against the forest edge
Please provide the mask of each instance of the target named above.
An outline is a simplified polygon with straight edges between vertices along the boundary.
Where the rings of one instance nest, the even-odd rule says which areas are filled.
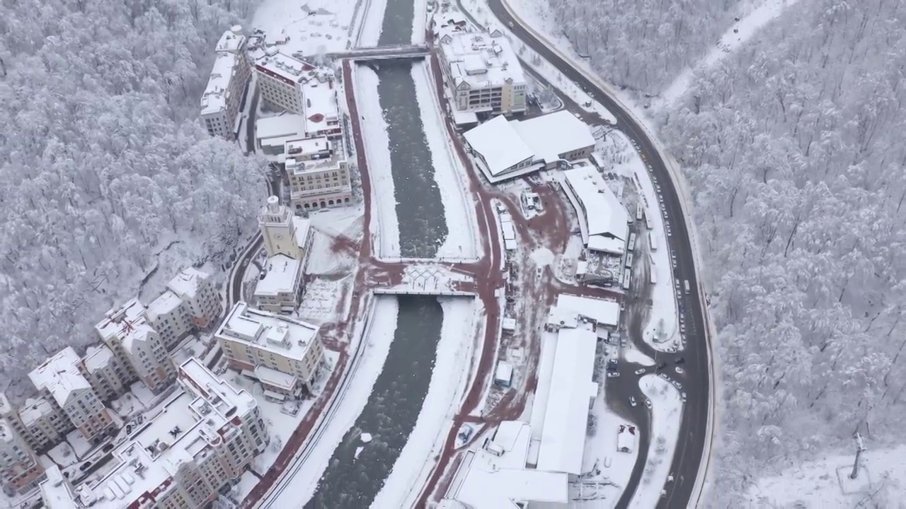
[[[201,120],[211,136],[233,139],[242,98],[252,76],[242,27],[236,25],[227,30],[215,51],[217,59],[201,96]]]

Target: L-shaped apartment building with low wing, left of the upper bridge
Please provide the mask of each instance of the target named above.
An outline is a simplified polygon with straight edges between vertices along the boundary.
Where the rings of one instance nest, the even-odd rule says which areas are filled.
[[[342,138],[333,72],[271,51],[255,62],[261,99],[304,118],[306,137]]]

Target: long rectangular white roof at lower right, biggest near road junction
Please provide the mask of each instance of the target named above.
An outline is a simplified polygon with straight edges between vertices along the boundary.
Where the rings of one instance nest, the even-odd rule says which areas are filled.
[[[592,381],[597,341],[597,335],[585,329],[561,329],[558,333],[538,451],[539,470],[582,473],[589,401],[597,391]]]

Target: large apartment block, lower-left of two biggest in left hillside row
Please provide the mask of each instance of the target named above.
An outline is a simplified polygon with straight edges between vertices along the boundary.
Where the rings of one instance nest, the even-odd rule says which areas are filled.
[[[82,376],[82,360],[72,347],[64,348],[30,373],[34,387],[63,408],[63,413],[82,437],[98,443],[114,427],[101,398]]]

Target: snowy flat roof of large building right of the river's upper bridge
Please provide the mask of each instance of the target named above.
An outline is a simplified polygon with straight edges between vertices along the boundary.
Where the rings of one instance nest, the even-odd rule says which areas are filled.
[[[472,89],[502,87],[507,82],[525,84],[516,53],[500,32],[446,31],[440,36],[440,51],[455,87],[462,83]]]

